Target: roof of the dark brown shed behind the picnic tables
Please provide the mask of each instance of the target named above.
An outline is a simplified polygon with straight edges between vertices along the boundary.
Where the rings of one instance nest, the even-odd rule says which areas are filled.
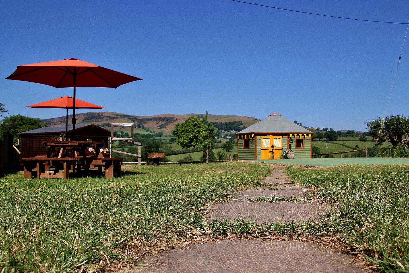
[[[88,125],[77,125],[75,126],[75,131],[77,133],[77,135],[81,136],[81,131],[87,130],[87,129],[91,129],[91,130],[95,130],[96,132],[98,132],[98,135],[102,135],[102,136],[110,136],[111,132],[99,127],[97,125],[92,124],[88,124]],[[88,130],[87,130],[88,131]],[[19,133],[19,135],[54,135],[54,134],[62,134],[65,133],[65,126],[59,126],[59,127],[42,127],[42,128],[38,128],[38,129],[34,129],[34,130],[30,130],[30,131],[26,131],[26,132],[22,132]],[[72,125],[68,125],[68,134],[72,133]],[[89,134],[87,134],[89,135]]]

